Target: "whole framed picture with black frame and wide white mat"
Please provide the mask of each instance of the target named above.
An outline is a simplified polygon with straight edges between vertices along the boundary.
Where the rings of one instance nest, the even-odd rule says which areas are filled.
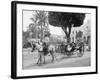
[[[13,7],[14,77],[97,73],[96,6],[15,2]]]

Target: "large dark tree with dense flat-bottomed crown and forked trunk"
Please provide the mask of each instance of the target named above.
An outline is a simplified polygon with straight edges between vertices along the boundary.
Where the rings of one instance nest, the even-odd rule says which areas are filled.
[[[80,27],[85,19],[85,13],[49,12],[49,24],[62,27],[67,39],[70,38],[71,28]]]

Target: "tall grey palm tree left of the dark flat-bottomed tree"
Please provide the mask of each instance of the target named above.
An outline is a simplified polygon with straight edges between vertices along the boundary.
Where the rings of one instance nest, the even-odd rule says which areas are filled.
[[[39,26],[41,27],[41,40],[43,39],[44,36],[44,29],[46,28],[46,22],[47,22],[47,12],[45,11],[34,11],[33,17],[31,18],[31,20],[33,21],[34,25],[39,28]]]

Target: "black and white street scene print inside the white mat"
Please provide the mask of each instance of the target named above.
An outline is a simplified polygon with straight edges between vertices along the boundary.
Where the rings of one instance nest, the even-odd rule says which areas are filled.
[[[91,66],[91,14],[23,10],[22,68]]]

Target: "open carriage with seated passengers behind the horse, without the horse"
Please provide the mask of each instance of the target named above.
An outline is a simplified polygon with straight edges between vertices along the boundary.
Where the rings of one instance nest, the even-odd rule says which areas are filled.
[[[84,42],[77,41],[76,43],[62,44],[61,52],[67,56],[77,54],[78,57],[81,57],[84,54]]]

